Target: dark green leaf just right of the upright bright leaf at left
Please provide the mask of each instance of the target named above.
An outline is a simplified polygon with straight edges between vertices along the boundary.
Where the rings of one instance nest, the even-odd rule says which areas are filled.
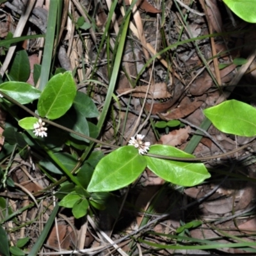
[[[74,99],[74,108],[84,117],[93,118],[99,116],[99,111],[92,99],[83,92],[77,92]]]

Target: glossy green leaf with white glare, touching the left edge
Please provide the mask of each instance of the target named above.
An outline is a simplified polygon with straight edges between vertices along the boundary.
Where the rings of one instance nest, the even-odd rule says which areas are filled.
[[[20,104],[28,104],[41,95],[41,92],[30,84],[14,81],[0,84],[0,92],[6,93]]]

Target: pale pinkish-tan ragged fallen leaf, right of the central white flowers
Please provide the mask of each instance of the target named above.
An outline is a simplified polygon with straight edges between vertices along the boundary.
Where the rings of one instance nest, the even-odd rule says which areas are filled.
[[[180,128],[179,130],[174,130],[161,136],[159,142],[161,142],[163,145],[170,145],[173,147],[181,145],[188,140],[190,131],[191,128],[189,126],[186,128]]]

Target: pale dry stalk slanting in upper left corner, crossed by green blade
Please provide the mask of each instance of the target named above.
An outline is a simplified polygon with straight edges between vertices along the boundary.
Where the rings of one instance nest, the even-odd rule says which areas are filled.
[[[26,8],[26,11],[24,14],[21,15],[20,17],[20,20],[19,20],[19,23],[17,25],[17,28],[15,29],[15,32],[13,34],[13,38],[14,37],[19,37],[22,35],[22,31],[29,19],[29,15],[33,9],[33,6],[35,4],[35,0],[30,0],[27,4],[27,8]],[[16,49],[17,45],[13,45],[9,48],[8,52],[7,52],[7,55],[6,55],[6,58],[4,59],[4,63],[3,63],[3,66],[1,67],[1,70],[0,70],[0,75],[3,77],[4,76],[4,73],[6,72],[6,69],[8,68],[8,65],[10,63],[10,61],[12,60],[12,56],[15,52],[15,49]]]

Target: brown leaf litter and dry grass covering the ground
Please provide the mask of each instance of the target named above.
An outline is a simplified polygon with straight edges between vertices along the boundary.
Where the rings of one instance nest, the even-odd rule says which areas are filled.
[[[1,4],[5,18],[1,22],[0,36],[2,39],[6,38],[7,33],[15,30],[17,26],[19,20],[12,24],[10,20],[13,19],[13,13],[21,14],[19,4],[23,3],[22,1],[18,2]],[[48,12],[49,1],[36,2],[30,17],[29,29],[33,33],[41,33],[46,29],[44,17]],[[109,31],[109,44],[115,40],[113,35],[118,33],[116,24],[118,28],[118,24],[124,19],[121,14],[122,1],[119,2],[120,4],[115,10],[116,19],[113,18],[111,31]],[[130,1],[125,1],[125,5],[128,7],[130,3]],[[232,60],[237,56],[248,58],[248,47],[243,46],[250,45],[250,35],[255,31],[255,27],[244,24],[236,17],[227,18],[223,3],[218,3],[218,1],[198,1],[198,3],[192,4],[190,1],[182,1],[182,3],[185,7],[175,0],[165,2],[142,0],[136,3],[138,10],[137,14],[134,13],[132,17],[131,35],[127,37],[122,69],[116,84],[115,93],[118,95],[118,100],[113,101],[113,108],[108,124],[102,133],[102,140],[121,145],[140,131],[142,134],[147,134],[147,140],[151,144],[173,145],[186,150],[186,145],[191,138],[198,135],[195,127],[200,126],[204,120],[202,109],[214,106],[220,100],[223,92],[227,92],[229,96],[234,91],[232,97],[249,100],[249,103],[254,106],[254,99],[249,97],[254,92],[253,84],[251,87],[246,86],[252,81],[255,82],[255,76],[253,77],[255,63],[249,68],[252,70],[252,72],[248,72],[250,77],[248,74],[244,76],[237,86],[238,89],[235,89],[236,83],[230,84],[230,81],[233,81],[237,72],[237,65],[234,65]],[[94,1],[81,1],[81,3],[75,0],[70,1],[72,19],[77,20],[81,15],[83,16],[84,13],[81,13],[81,10],[84,8],[89,15],[92,15],[93,20],[96,20],[93,25],[97,26],[100,33],[92,33],[92,35],[84,33],[83,40],[81,40],[77,33],[79,28],[75,28],[72,20],[68,18],[64,28],[64,38],[60,42],[64,51],[59,52],[60,64],[56,64],[67,63],[65,68],[77,70],[77,88],[81,92],[90,92],[93,100],[97,102],[99,111],[104,104],[102,102],[104,102],[108,90],[106,85],[109,82],[108,45],[105,44],[102,51],[97,52],[109,15],[108,4],[109,1],[95,1],[95,3]],[[164,8],[162,8],[163,4]],[[189,10],[195,10],[195,12]],[[202,12],[202,10],[204,12],[206,10],[204,16],[196,15],[196,12]],[[182,15],[185,14],[188,15],[188,19],[183,19]],[[232,25],[231,18],[236,19],[236,27]],[[251,29],[251,31],[244,33],[244,29]],[[234,31],[234,33],[218,35],[213,40],[206,36],[204,40],[195,40],[172,47],[170,51],[164,51],[144,68],[150,58],[167,46],[175,44],[179,40],[208,35],[211,31],[212,33]],[[42,41],[27,43],[26,51],[29,54],[31,65],[28,83],[36,86],[36,69],[33,74],[32,70],[33,67],[35,68],[34,64],[41,61],[40,44]],[[98,53],[99,59],[97,59]],[[95,64],[97,65],[96,73],[93,69]],[[227,67],[220,70],[218,67],[220,64],[227,64]],[[94,85],[92,87],[90,83],[86,82],[92,78],[103,86]],[[218,84],[218,81],[221,81],[221,84]],[[131,99],[129,99],[130,95]],[[144,102],[145,104],[143,104]],[[142,108],[142,106],[144,107]],[[127,115],[126,111],[128,111]],[[3,129],[2,117],[4,122],[5,116],[2,111],[0,114],[1,129]],[[147,120],[148,116],[151,118],[151,123]],[[180,127],[169,127],[168,131],[154,128],[154,124],[159,120],[168,121],[179,118],[184,118],[195,126],[184,123]],[[3,133],[2,130],[0,132]],[[236,148],[237,144],[248,143],[241,138],[222,134],[214,127],[211,127],[208,132],[213,140],[207,136],[202,138],[193,152],[195,156],[220,154],[221,150],[216,146],[216,142],[220,143],[227,151]],[[3,145],[4,138],[1,136],[0,146],[3,147]],[[255,204],[255,158],[253,152],[248,151],[246,154],[248,158],[244,156],[244,152],[239,152],[236,156],[232,156],[232,159],[207,163],[207,168],[212,173],[212,179],[195,188],[180,189],[172,184],[166,184],[164,180],[146,170],[129,189],[118,191],[116,199],[109,202],[116,212],[111,211],[113,210],[111,207],[106,207],[104,211],[93,212],[94,221],[98,223],[100,232],[86,218],[75,220],[70,212],[66,211],[67,209],[61,209],[61,214],[56,219],[57,225],[54,225],[45,241],[44,252],[54,252],[59,255],[64,250],[70,250],[70,252],[80,250],[81,253],[97,252],[99,255],[100,253],[106,255],[104,254],[106,248],[103,246],[106,239],[102,237],[102,232],[113,241],[117,241],[126,253],[133,250],[132,255],[137,255],[140,250],[143,255],[150,255],[150,253],[156,253],[156,248],[141,242],[138,248],[131,249],[132,246],[129,247],[124,243],[125,240],[122,241],[124,237],[128,239],[129,234],[136,234],[140,237],[144,233],[141,237],[145,241],[156,244],[175,245],[184,239],[181,238],[182,236],[188,237],[186,240],[188,245],[191,245],[193,238],[202,239],[197,243],[198,249],[195,246],[194,250],[187,250],[184,246],[184,249],[180,250],[170,248],[157,252],[163,253],[163,255],[202,253],[200,245],[205,244],[204,240],[214,239],[218,243],[227,244],[230,239],[232,243],[236,243],[240,241],[238,237],[242,235],[243,241],[255,241],[251,236],[255,234],[256,230],[255,209],[253,208]],[[51,183],[45,178],[44,172],[35,167],[37,157],[36,152],[29,152],[28,156],[24,158],[25,160],[19,156],[14,157],[10,177],[15,182],[14,186],[15,184],[19,184],[19,186],[15,187],[15,191],[1,191],[1,200],[10,208],[8,211],[16,212],[22,207],[28,206],[33,202],[33,198],[35,199],[36,193]],[[242,160],[238,161],[241,157]],[[2,164],[6,164],[6,161],[3,160]],[[6,198],[9,197],[11,199],[7,200]],[[28,208],[13,222],[5,221],[10,239],[16,243],[20,237],[31,237],[31,242],[26,248],[29,250],[35,244],[38,234],[43,229],[42,226],[51,214],[53,209],[51,202],[52,196],[46,195],[40,201],[38,208]],[[3,204],[1,210],[3,220],[4,214],[6,216]],[[118,214],[116,214],[117,212]],[[182,236],[179,234],[180,238],[172,237],[176,234],[175,230],[178,227],[193,220],[201,220],[203,224],[199,228],[186,230]],[[22,223],[26,223],[26,230],[19,228]],[[137,234],[136,230],[141,225],[145,225],[145,230],[141,229]],[[147,232],[148,227],[154,232]],[[189,237],[191,237],[190,243]],[[245,253],[246,249],[223,246],[216,250],[216,255],[221,255],[224,252]],[[209,250],[204,250],[204,253],[211,254]]]

